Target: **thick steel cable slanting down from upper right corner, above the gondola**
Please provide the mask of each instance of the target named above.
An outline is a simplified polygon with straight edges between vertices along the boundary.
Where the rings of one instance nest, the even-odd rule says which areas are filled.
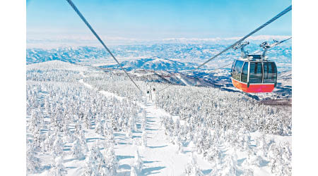
[[[278,18],[280,18],[282,15],[285,15],[285,13],[288,13],[290,10],[292,9],[292,6],[289,6],[288,8],[285,8],[285,10],[283,10],[281,13],[278,13],[278,15],[274,16],[273,18],[271,18],[271,20],[267,21],[266,23],[264,23],[263,25],[261,25],[260,27],[258,27],[256,30],[253,30],[252,32],[250,32],[249,34],[247,34],[245,37],[242,37],[242,39],[238,40],[237,42],[235,42],[234,44],[228,46],[226,49],[224,49],[223,51],[220,51],[220,53],[216,54],[216,56],[213,56],[212,58],[208,59],[208,61],[205,61],[204,63],[202,63],[201,65],[199,65],[197,68],[195,68],[194,70],[197,70],[199,68],[201,68],[201,66],[206,65],[206,63],[208,63],[209,61],[211,61],[213,58],[216,58],[218,56],[220,56],[221,54],[223,54],[225,51],[228,51],[229,49],[231,49],[233,46],[235,46],[236,44],[239,44],[240,42],[242,42],[243,40],[245,40],[247,37],[251,36],[252,34],[254,34],[255,32],[261,30],[261,28],[265,27],[266,25],[269,25],[270,23],[272,23],[274,20],[277,20]]]

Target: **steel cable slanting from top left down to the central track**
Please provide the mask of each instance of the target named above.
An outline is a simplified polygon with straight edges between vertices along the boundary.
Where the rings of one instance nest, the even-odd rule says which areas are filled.
[[[80,11],[78,11],[78,8],[75,6],[75,4],[73,4],[73,2],[71,0],[66,0],[69,5],[71,5],[71,7],[74,9],[74,11],[76,11],[76,13],[78,14],[78,16],[83,20],[83,22],[87,25],[87,27],[90,29],[91,32],[93,32],[93,34],[95,35],[95,37],[98,39],[98,41],[100,41],[100,43],[102,44],[102,46],[104,46],[104,48],[108,51],[108,53],[110,54],[110,56],[112,56],[112,58],[114,58],[114,61],[117,62],[117,64],[119,65],[119,67],[124,71],[124,73],[126,73],[126,75],[129,77],[129,79],[131,80],[131,82],[133,82],[135,84],[135,86],[139,89],[140,92],[141,89],[139,88],[139,86],[136,84],[136,82],[134,82],[134,80],[132,80],[132,78],[129,76],[129,74],[126,72],[126,70],[124,70],[124,68],[122,67],[122,65],[119,63],[119,61],[117,60],[117,58],[114,57],[114,55],[112,54],[112,52],[110,51],[110,49],[107,48],[107,46],[104,44],[104,42],[102,42],[102,39],[100,39],[100,37],[98,36],[98,34],[95,32],[95,30],[93,30],[93,27],[90,26],[90,24],[88,23],[88,21],[84,18],[84,16],[82,15],[82,13]]]

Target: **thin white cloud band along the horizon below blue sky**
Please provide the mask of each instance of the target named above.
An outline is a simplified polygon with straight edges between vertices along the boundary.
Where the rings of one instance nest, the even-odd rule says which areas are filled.
[[[165,39],[136,39],[126,37],[100,36],[107,45],[125,44],[231,44],[242,37],[226,38],[165,38]],[[272,39],[287,39],[285,35],[257,35],[247,38],[247,41],[271,41]],[[62,46],[101,46],[92,35],[65,35],[54,37],[28,36],[27,48],[57,48]]]

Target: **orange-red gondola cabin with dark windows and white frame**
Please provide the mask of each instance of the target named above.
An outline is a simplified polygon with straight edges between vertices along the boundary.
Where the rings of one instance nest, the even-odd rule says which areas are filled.
[[[277,82],[276,64],[261,55],[247,55],[233,62],[231,80],[243,92],[272,92]]]

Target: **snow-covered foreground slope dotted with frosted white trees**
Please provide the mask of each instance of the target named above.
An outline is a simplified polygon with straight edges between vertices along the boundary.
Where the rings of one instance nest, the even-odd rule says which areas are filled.
[[[28,175],[290,175],[288,107],[76,69],[27,71]]]

